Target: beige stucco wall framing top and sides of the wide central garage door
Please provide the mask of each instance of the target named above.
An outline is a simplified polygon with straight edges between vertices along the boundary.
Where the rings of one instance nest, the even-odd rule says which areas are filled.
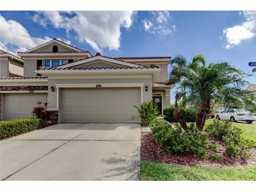
[[[151,78],[95,78],[95,79],[82,79],[82,78],[76,78],[76,79],[49,79],[48,81],[48,102],[49,103],[49,109],[56,109],[57,108],[57,90],[55,92],[52,92],[50,90],[50,86],[55,86],[56,84],[69,84],[69,83],[95,83],[95,84],[101,84],[101,83],[144,83],[145,85],[148,85],[149,90],[146,92],[146,90],[143,88],[143,102],[147,102],[152,99],[152,80]]]

